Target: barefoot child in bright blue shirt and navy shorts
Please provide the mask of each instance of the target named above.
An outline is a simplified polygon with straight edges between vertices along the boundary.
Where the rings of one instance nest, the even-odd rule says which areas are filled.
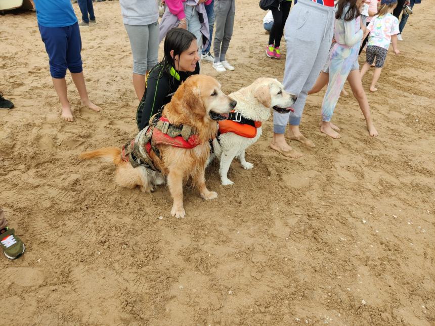
[[[39,32],[50,59],[50,74],[62,105],[62,118],[72,122],[66,88],[66,69],[80,95],[81,104],[94,111],[100,108],[89,100],[81,62],[81,37],[70,0],[35,0]]]

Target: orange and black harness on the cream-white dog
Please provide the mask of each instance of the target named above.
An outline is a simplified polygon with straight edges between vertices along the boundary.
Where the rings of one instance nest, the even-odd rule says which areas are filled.
[[[261,127],[260,121],[246,119],[238,111],[232,111],[227,120],[219,121],[219,134],[234,132],[235,134],[254,138],[257,135],[257,128]]]

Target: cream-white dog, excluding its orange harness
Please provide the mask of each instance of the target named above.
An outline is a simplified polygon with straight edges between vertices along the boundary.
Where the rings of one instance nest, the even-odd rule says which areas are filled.
[[[273,78],[258,78],[251,85],[244,87],[232,94],[230,97],[237,101],[236,112],[241,116],[257,122],[265,122],[269,119],[272,110],[278,113],[291,111],[290,108],[296,101],[296,96],[284,90],[283,85]],[[252,169],[253,164],[246,162],[245,150],[254,144],[262,135],[262,127],[257,127],[256,135],[247,138],[234,132],[222,133],[213,140],[213,155],[220,159],[219,173],[223,185],[234,184],[227,174],[231,162],[237,156],[244,169]]]

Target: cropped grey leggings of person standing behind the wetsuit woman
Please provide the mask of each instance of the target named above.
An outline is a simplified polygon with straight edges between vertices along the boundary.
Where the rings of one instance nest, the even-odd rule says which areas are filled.
[[[133,73],[146,75],[158,62],[159,24],[126,25],[133,54]]]

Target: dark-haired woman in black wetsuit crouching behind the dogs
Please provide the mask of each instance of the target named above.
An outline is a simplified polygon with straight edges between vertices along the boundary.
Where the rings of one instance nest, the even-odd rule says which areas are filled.
[[[183,28],[171,29],[164,41],[163,60],[151,69],[146,80],[145,94],[136,115],[139,130],[170,102],[183,81],[199,74],[198,61],[195,35]]]

